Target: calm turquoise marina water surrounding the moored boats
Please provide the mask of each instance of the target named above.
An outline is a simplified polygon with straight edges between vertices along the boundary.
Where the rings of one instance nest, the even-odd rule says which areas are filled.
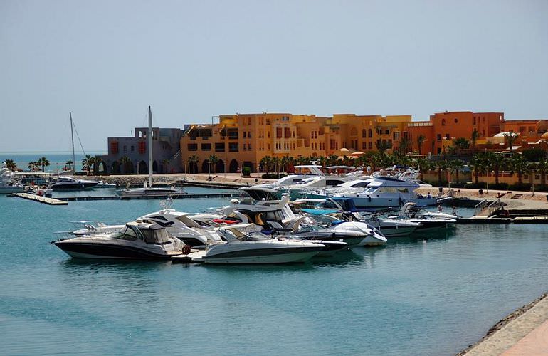
[[[0,197],[1,353],[451,355],[547,290],[545,226],[459,226],[294,266],[78,262],[48,244],[70,221],[158,203]]]

